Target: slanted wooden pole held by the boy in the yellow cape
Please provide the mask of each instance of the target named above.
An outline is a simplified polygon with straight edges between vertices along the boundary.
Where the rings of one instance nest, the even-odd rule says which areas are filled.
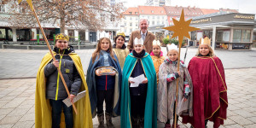
[[[55,61],[55,60],[56,60],[56,59],[55,59],[55,55],[53,55],[52,50],[50,49],[48,39],[47,39],[46,36],[45,36],[44,29],[43,29],[43,27],[41,26],[40,21],[38,20],[38,15],[37,15],[37,13],[35,12],[35,9],[34,9],[34,8],[32,8],[32,12],[33,12],[33,15],[36,17],[36,19],[37,19],[37,21],[38,21],[38,26],[39,26],[39,28],[40,28],[40,30],[41,30],[43,36],[44,36],[44,40],[45,40],[45,42],[46,42],[46,44],[47,44],[47,47],[48,47],[48,49],[49,49],[49,53],[50,53],[50,55],[52,56],[53,60]],[[63,76],[62,76],[61,69],[60,69],[60,67],[57,68],[57,69],[58,69],[58,73],[59,73],[60,76],[61,76],[61,80],[62,80],[62,82],[63,82],[63,84],[64,84],[64,87],[65,87],[65,89],[66,89],[66,91],[67,91],[67,95],[68,95],[68,97],[69,97],[69,96],[70,96],[70,93],[69,93],[69,90],[68,90],[68,88],[67,88],[67,84],[66,84],[66,82],[65,82],[65,79],[64,79]],[[73,104],[73,102],[72,102],[72,106],[73,106],[73,110],[75,111],[75,113],[78,114],[77,108],[75,107],[75,105]]]

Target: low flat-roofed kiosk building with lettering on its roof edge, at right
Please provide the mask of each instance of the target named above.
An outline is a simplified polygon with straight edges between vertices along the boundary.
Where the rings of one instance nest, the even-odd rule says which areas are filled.
[[[226,11],[193,18],[190,26],[201,30],[191,33],[193,45],[200,38],[211,38],[215,49],[252,49],[255,15],[229,13]]]

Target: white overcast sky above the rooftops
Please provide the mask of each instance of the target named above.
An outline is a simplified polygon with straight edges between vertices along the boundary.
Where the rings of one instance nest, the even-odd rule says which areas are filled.
[[[121,0],[125,7],[144,5],[147,0]],[[238,9],[240,13],[256,14],[256,0],[171,0],[172,6],[197,7],[201,9]]]

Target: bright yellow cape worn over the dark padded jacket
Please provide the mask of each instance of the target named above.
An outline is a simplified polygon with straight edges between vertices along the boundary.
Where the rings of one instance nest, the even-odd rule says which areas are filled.
[[[54,53],[56,55],[56,53]],[[82,79],[82,85],[79,91],[87,90],[85,96],[81,98],[74,105],[78,110],[76,115],[73,112],[73,127],[74,128],[92,128],[92,117],[90,113],[90,98],[89,90],[84,78],[84,71],[79,55],[70,53],[69,56],[72,58],[75,67],[77,68],[80,77]],[[52,60],[52,56],[47,53],[44,55],[41,61],[40,67],[37,74],[37,87],[36,87],[36,98],[35,98],[35,127],[49,128],[51,127],[51,107],[49,100],[45,98],[45,83],[46,78],[44,77],[44,67]],[[65,127],[65,119],[63,113],[61,113],[61,127]]]

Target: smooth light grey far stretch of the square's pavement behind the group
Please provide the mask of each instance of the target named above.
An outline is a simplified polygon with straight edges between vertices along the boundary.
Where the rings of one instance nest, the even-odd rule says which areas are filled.
[[[76,52],[81,57],[84,73],[90,62],[90,56],[95,49],[78,49]],[[162,47],[166,55],[166,47]],[[185,48],[181,50],[181,59],[184,58]],[[189,48],[185,63],[196,54],[197,49]],[[35,78],[38,67],[44,55],[49,50],[38,49],[0,49],[0,79],[7,78]],[[224,68],[256,67],[256,49],[251,51],[216,50],[216,55],[223,61]]]

